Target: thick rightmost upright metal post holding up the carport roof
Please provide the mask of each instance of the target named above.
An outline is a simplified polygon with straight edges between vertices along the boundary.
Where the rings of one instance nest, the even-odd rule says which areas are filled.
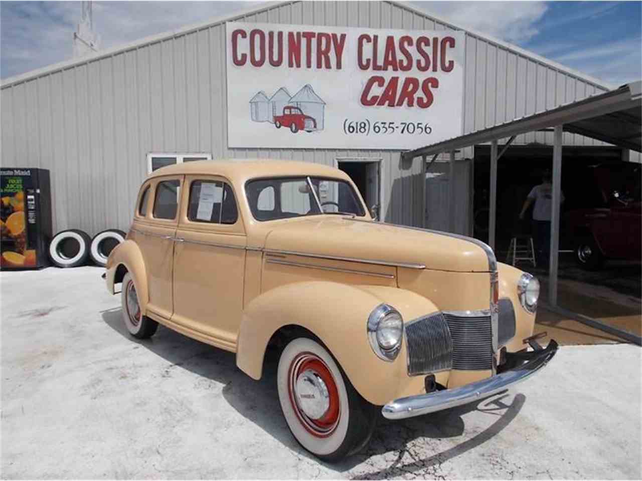
[[[553,130],[553,198],[551,199],[551,257],[548,274],[548,303],[557,307],[557,260],[560,237],[560,192],[562,187],[562,126]]]

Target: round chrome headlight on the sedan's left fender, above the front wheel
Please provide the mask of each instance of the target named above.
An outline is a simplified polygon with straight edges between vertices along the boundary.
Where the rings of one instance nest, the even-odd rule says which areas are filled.
[[[383,360],[395,360],[403,339],[401,314],[394,307],[380,304],[368,316],[367,328],[374,353]]]

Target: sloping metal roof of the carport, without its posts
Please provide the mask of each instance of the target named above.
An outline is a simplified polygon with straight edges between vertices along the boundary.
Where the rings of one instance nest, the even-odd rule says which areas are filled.
[[[411,159],[455,151],[556,125],[562,125],[568,132],[642,152],[641,112],[642,81],[636,81],[610,92],[408,151],[403,157]]]

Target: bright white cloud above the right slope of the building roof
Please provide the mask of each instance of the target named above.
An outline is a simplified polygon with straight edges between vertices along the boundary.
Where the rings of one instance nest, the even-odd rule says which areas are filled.
[[[526,42],[539,33],[535,24],[546,13],[542,1],[417,1],[417,8],[443,17],[457,26],[480,31],[512,43]]]

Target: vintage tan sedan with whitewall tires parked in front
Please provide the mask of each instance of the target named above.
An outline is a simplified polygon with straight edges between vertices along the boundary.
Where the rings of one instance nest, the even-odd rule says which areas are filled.
[[[190,162],[144,181],[107,290],[138,338],[158,323],[236,353],[254,379],[280,350],[294,437],[338,460],[376,419],[479,400],[557,351],[533,326],[539,283],[483,242],[379,223],[350,178],[302,162]],[[380,414],[381,413],[381,414]]]

